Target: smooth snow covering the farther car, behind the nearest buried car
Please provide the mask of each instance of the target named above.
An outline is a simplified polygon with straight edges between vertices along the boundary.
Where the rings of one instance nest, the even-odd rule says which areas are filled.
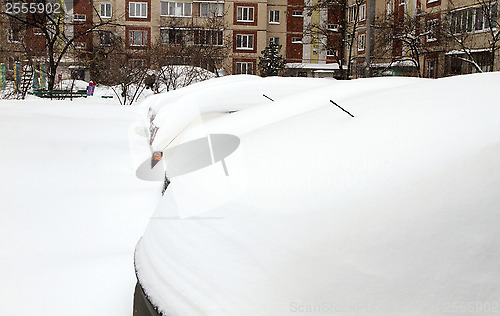
[[[205,81],[172,93],[161,94],[147,99],[143,104],[155,114],[153,124],[160,128],[153,142],[154,150],[164,150],[174,139],[189,136],[189,128],[201,126],[216,113],[244,111],[244,117],[231,119],[227,124],[243,132],[243,129],[256,129],[270,122],[298,115],[305,111],[330,104],[321,91],[330,89],[331,97],[343,100],[388,87],[414,83],[414,78],[380,78],[365,80],[361,86],[353,87],[346,82],[332,79],[311,78],[261,78],[256,76],[229,76]],[[318,91],[318,93],[316,93]],[[267,98],[266,98],[267,97]],[[268,98],[271,98],[268,99]],[[270,106],[270,103],[273,103]],[[251,116],[251,118],[250,118]],[[191,125],[191,126],[190,126]],[[215,128],[220,129],[217,121]],[[180,137],[178,136],[181,134]],[[233,130],[233,133],[237,133]],[[198,135],[199,132],[194,132]]]

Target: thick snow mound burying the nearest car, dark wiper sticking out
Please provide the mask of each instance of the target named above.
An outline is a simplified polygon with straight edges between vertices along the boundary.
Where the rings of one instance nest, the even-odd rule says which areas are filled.
[[[286,85],[202,124],[241,143],[227,181],[211,181],[220,163],[171,179],[136,248],[151,301],[169,316],[499,314],[500,74]],[[223,203],[207,194],[234,183]]]

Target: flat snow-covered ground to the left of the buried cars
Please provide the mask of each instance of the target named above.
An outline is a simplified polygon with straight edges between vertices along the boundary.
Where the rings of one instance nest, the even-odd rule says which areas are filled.
[[[98,102],[0,101],[0,315],[132,315],[161,185],[135,177],[146,110]]]

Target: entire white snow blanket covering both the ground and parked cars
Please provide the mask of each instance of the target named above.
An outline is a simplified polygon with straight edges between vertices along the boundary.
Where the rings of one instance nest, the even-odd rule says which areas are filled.
[[[499,315],[499,85],[234,76],[141,106],[0,101],[0,315],[131,315],[134,250],[168,316]],[[148,111],[154,150],[237,137],[229,176],[163,197],[137,179]]]

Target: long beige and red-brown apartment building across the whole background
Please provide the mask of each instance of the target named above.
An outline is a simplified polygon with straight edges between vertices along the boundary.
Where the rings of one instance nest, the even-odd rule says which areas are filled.
[[[258,57],[269,42],[274,42],[282,45],[288,75],[338,77],[337,58],[343,47],[344,58],[351,56],[345,61],[351,65],[350,76],[356,78],[418,73],[415,65],[408,62],[411,58],[403,61],[405,57],[412,57],[406,56],[404,43],[393,42],[385,51],[377,44],[382,36],[377,27],[380,19],[414,18],[424,25],[417,32],[426,34],[417,58],[422,76],[437,78],[470,73],[478,71],[478,67],[484,71],[500,70],[500,63],[488,62],[492,58],[491,33],[497,29],[496,3],[486,0],[347,0],[348,8],[344,12],[338,7],[308,9],[317,3],[318,0],[69,0],[65,1],[66,13],[72,23],[64,32],[71,35],[88,29],[96,21],[113,20],[119,26],[104,27],[79,38],[74,49],[92,51],[120,37],[126,49],[140,51],[155,43],[177,45],[184,26],[189,26],[196,29],[191,44],[232,42],[230,52],[217,60],[216,67],[224,69],[225,74],[258,74]],[[491,5],[486,8],[488,3]],[[0,19],[5,26],[0,29],[0,62],[12,70],[14,62],[21,58],[20,35],[6,22],[5,16]],[[210,19],[223,23],[210,28],[207,27]],[[343,21],[346,23],[342,24]],[[444,21],[451,25],[451,35],[446,39],[433,35],[433,28]],[[326,26],[328,32],[317,37],[311,35],[306,30],[315,23]],[[342,25],[346,28],[345,38],[340,36]],[[30,45],[43,51],[43,40],[37,40],[36,30],[27,33]],[[463,38],[467,47],[460,47],[458,41],[450,40],[451,37]],[[332,40],[337,44],[325,44]],[[341,42],[347,45],[341,46]],[[474,63],[464,58],[469,55],[474,57]],[[497,59],[495,54],[493,60]],[[75,68],[73,72],[83,76],[83,70]]]

